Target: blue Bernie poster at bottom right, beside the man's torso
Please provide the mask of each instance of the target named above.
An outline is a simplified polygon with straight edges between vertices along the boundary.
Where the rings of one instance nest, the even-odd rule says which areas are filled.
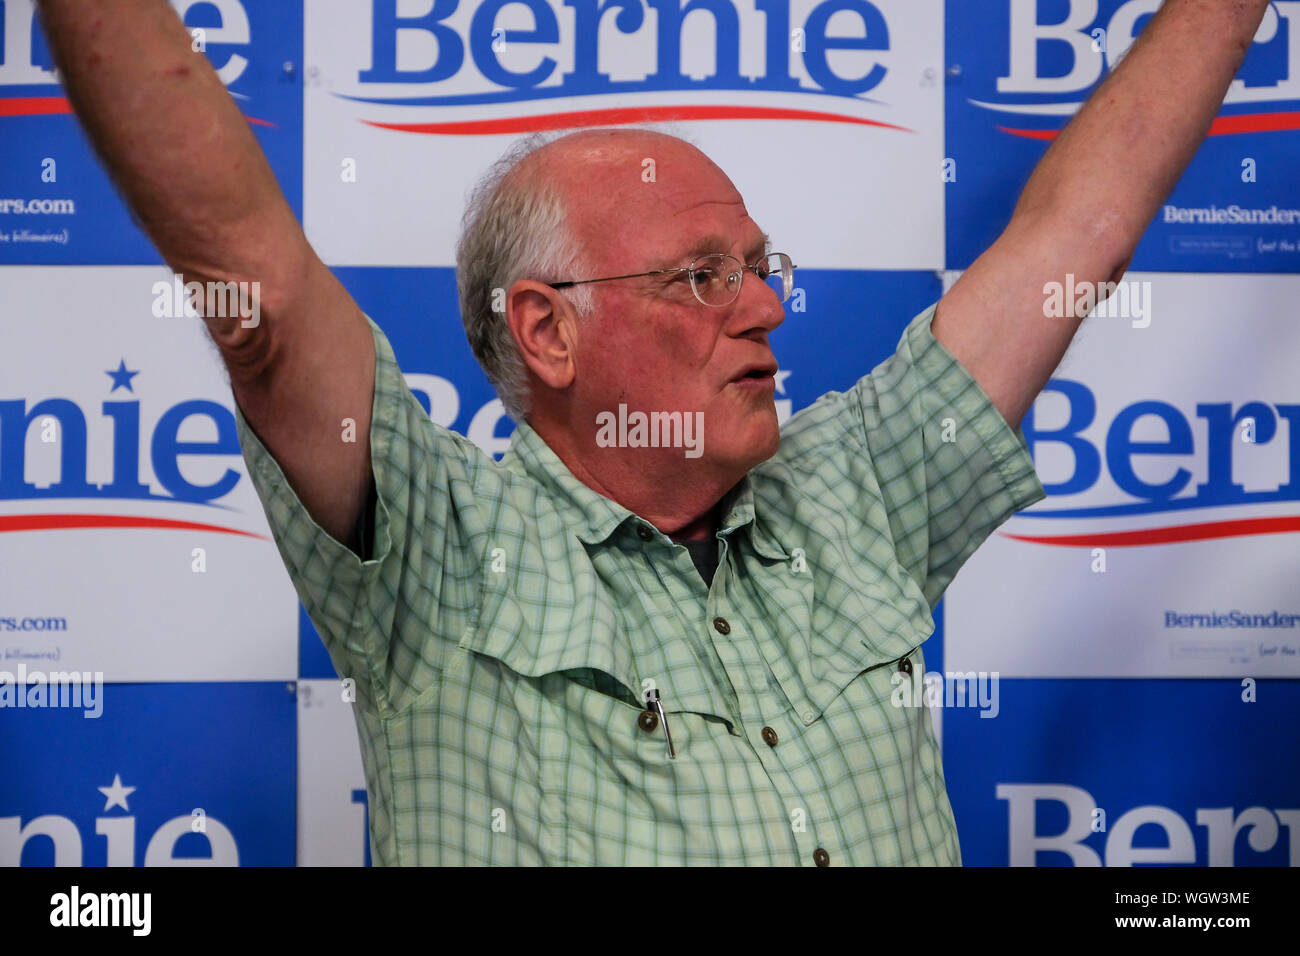
[[[944,710],[963,864],[1300,865],[1300,683],[1017,679],[997,691],[996,710]]]

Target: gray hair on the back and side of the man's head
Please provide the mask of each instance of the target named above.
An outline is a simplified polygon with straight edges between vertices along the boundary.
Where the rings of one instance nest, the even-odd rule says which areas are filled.
[[[523,278],[577,278],[573,269],[581,263],[582,247],[569,228],[560,190],[540,177],[520,181],[510,173],[560,135],[534,133],[493,164],[469,195],[456,243],[456,290],[465,337],[516,421],[529,407],[528,369],[506,321],[503,297]],[[580,316],[593,312],[590,286],[571,286],[563,294]]]

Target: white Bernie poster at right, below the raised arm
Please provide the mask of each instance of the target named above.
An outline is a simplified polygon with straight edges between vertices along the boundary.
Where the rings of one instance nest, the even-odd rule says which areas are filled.
[[[946,663],[1300,675],[1300,324],[1278,307],[1300,277],[1124,282],[1127,315],[1084,321],[1026,428],[1048,498],[948,589]]]

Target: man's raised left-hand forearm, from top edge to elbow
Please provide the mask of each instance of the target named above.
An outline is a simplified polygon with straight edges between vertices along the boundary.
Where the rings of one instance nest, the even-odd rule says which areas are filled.
[[[300,230],[248,124],[165,0],[40,0],[68,98],[164,259],[196,277],[264,268]]]

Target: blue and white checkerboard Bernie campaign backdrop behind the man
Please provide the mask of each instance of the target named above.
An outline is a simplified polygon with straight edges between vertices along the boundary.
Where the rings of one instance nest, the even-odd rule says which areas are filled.
[[[500,455],[454,247],[517,137],[656,122],[733,178],[800,267],[784,420],[997,238],[1160,4],[173,5],[416,398]],[[1122,308],[1024,420],[1048,498],[935,614],[966,864],[1300,862],[1297,130],[1300,1],[1279,0]],[[368,865],[348,695],[170,280],[31,1],[0,0],[0,864]]]

